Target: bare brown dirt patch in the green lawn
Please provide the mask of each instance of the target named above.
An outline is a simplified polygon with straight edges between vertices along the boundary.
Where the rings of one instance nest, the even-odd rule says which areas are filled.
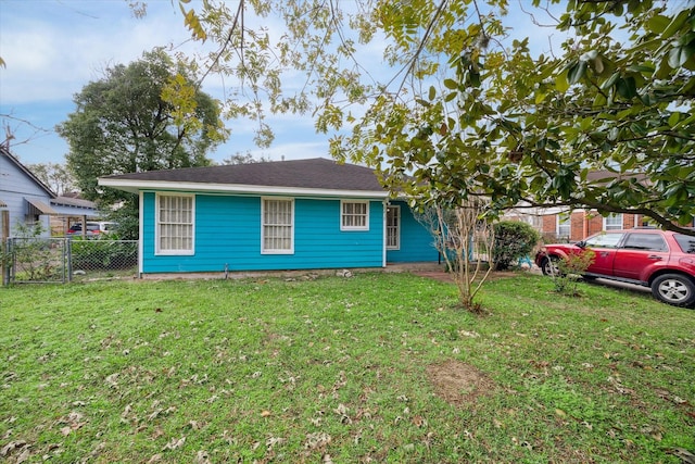
[[[454,360],[430,365],[427,377],[434,386],[434,393],[456,406],[470,404],[495,388],[495,383],[484,373]]]

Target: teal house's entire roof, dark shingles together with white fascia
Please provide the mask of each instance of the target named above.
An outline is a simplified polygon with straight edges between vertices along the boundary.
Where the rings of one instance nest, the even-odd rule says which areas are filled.
[[[162,189],[387,197],[374,170],[323,158],[121,174],[101,177],[99,185],[131,192]]]

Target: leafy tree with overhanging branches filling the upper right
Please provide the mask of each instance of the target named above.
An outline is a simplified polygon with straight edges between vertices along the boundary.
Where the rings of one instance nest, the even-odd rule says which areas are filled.
[[[313,112],[318,130],[342,130],[334,156],[378,167],[393,191],[644,214],[695,234],[682,228],[695,216],[692,1],[566,1],[548,16],[566,37],[549,55],[505,27],[506,0],[187,3],[193,36],[219,45],[208,70],[248,89],[229,115],[257,120],[262,142],[265,112]],[[285,35],[244,26],[269,16]],[[361,54],[375,48],[382,60]],[[296,84],[285,70],[305,80],[283,87]]]

